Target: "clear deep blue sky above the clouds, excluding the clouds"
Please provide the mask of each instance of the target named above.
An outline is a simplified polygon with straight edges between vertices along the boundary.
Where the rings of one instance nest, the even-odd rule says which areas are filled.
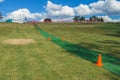
[[[0,3],[0,11],[5,13],[27,8],[31,12],[44,12],[44,6],[47,4],[48,0],[5,0]],[[49,0],[55,4],[68,5],[70,7],[78,6],[79,4],[90,4],[98,0]]]

